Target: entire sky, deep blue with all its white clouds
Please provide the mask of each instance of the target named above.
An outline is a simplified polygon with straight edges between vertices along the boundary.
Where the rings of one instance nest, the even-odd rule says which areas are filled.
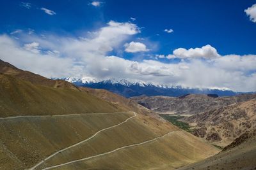
[[[1,1],[0,59],[52,77],[256,91],[256,1]]]

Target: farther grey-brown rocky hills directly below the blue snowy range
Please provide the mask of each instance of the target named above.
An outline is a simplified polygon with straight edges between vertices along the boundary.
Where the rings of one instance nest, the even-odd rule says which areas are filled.
[[[256,94],[241,94],[232,97],[210,97],[200,94],[188,94],[180,97],[138,96],[131,97],[131,99],[142,106],[159,113],[193,115],[214,108],[220,108],[221,106],[248,101],[255,97]]]

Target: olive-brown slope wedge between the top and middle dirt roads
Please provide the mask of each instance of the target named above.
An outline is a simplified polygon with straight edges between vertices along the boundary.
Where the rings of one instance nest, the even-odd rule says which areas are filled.
[[[97,114],[97,113],[96,113]],[[32,167],[61,148],[123,122],[132,113],[0,120],[0,167]]]

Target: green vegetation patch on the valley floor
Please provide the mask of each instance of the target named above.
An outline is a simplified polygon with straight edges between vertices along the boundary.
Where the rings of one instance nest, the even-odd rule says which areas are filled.
[[[191,129],[188,123],[179,121],[180,118],[184,118],[184,117],[179,115],[168,115],[168,114],[159,114],[159,115],[163,117],[165,120],[168,120],[169,122],[171,122],[173,125],[179,127],[180,129],[183,129],[184,131],[193,132],[193,129]]]

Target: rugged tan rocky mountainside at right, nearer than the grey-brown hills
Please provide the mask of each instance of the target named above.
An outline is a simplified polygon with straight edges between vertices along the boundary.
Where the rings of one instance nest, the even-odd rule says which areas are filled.
[[[230,104],[183,119],[195,125],[196,136],[225,146],[243,132],[256,129],[256,99]]]

